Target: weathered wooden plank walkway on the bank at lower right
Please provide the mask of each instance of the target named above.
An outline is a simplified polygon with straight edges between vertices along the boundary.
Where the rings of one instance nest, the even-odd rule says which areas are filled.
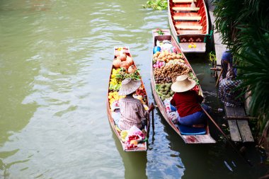
[[[244,120],[246,117],[246,112],[243,107],[229,107],[225,106],[231,140],[234,142],[254,142],[253,136],[251,134],[251,129],[248,126],[248,120]],[[240,120],[236,120],[236,117]],[[247,117],[246,117],[247,119]]]

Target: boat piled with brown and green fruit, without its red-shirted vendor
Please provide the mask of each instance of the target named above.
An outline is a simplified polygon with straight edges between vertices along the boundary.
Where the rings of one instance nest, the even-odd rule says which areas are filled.
[[[159,35],[161,32],[162,35]],[[151,59],[151,89],[153,91],[156,105],[158,106],[164,120],[168,122],[175,132],[183,139],[186,144],[209,144],[215,143],[210,136],[208,123],[205,127],[184,127],[176,122],[177,112],[171,112],[167,104],[173,96],[171,84],[176,81],[179,75],[187,74],[194,79],[197,84],[192,89],[202,96],[202,89],[195,76],[195,72],[187,58],[178,46],[178,43],[170,35],[169,30],[153,30],[153,55]],[[161,88],[166,88],[163,90]],[[168,108],[167,108],[168,107]],[[175,110],[176,111],[176,110]],[[176,118],[174,118],[176,117]],[[173,122],[174,121],[174,122]]]

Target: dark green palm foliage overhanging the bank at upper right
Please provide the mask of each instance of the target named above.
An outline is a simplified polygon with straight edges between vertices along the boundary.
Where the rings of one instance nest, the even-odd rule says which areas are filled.
[[[240,70],[240,88],[251,91],[251,114],[269,119],[269,1],[214,2],[216,28],[234,54]]]

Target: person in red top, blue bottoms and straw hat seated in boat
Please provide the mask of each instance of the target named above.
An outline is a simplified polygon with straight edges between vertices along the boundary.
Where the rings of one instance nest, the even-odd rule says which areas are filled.
[[[196,82],[193,79],[188,79],[188,75],[178,76],[176,82],[171,86],[171,90],[175,92],[171,99],[171,105],[178,110],[180,125],[203,127],[207,123],[207,115],[202,107],[207,111],[210,108],[207,105],[201,107],[200,103],[204,98],[198,95],[197,91],[191,90],[195,85]]]

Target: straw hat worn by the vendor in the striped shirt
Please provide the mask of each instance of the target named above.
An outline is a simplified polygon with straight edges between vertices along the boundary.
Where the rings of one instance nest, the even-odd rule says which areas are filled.
[[[135,92],[141,86],[140,80],[135,80],[131,78],[124,79],[122,81],[122,86],[120,86],[119,96],[129,95]]]

